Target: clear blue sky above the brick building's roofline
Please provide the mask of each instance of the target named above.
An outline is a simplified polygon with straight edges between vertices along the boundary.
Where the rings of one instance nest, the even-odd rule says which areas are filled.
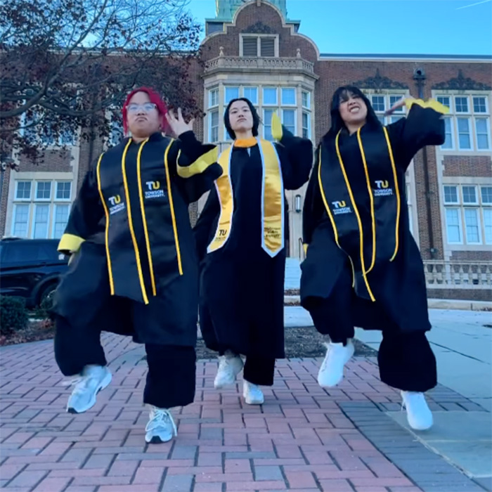
[[[215,0],[190,0],[201,22]],[[287,0],[321,53],[492,54],[492,0]]]

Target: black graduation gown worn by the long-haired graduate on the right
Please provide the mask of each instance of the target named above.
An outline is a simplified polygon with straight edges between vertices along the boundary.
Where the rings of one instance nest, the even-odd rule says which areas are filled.
[[[425,106],[425,107],[424,107]],[[347,285],[347,276],[356,279],[352,289],[347,291],[351,297],[351,319],[356,326],[365,329],[397,330],[401,332],[426,331],[431,328],[427,313],[427,294],[425,287],[425,275],[420,257],[420,252],[410,233],[408,222],[408,210],[406,207],[405,171],[415,153],[425,145],[440,145],[444,142],[444,120],[441,112],[429,107],[427,103],[417,101],[414,103],[408,116],[390,124],[387,136],[391,143],[394,157],[395,176],[401,207],[399,214],[391,215],[384,200],[394,200],[396,190],[388,181],[383,186],[387,190],[378,190],[376,186],[377,176],[380,173],[388,174],[388,169],[382,169],[389,162],[389,150],[384,141],[382,127],[370,127],[366,124],[361,129],[361,142],[363,143],[364,157],[367,163],[368,176],[370,176],[371,193],[375,200],[375,237],[377,238],[375,249],[375,262],[372,270],[367,273],[366,279],[370,285],[373,299],[368,296],[368,291],[361,275],[361,265],[358,263],[358,238],[359,231],[352,228],[351,231],[342,231],[344,237],[356,235],[355,248],[349,251],[351,260],[346,250],[337,246],[335,239],[335,228],[327,213],[327,205],[323,202],[323,190],[330,186],[330,176],[340,172],[339,159],[336,154],[335,138],[328,134],[323,138],[317,150],[318,159],[309,181],[304,204],[303,231],[304,242],[307,245],[306,259],[302,262],[301,278],[301,303],[306,309],[310,309],[323,299],[330,302],[335,298],[335,290]],[[321,167],[324,171],[319,172],[320,152],[324,153]],[[363,256],[365,257],[365,268],[368,269],[372,263],[373,252],[373,221],[371,216],[371,201],[368,192],[368,181],[366,181],[363,158],[359,146],[358,136],[349,136],[347,131],[339,135],[339,152],[347,172],[347,178],[354,195],[354,202],[361,219],[364,245]],[[384,164],[383,164],[384,163]],[[391,169],[391,167],[389,168]],[[391,177],[391,176],[390,176]],[[382,183],[383,181],[379,181]],[[394,183],[394,181],[391,181]],[[328,186],[327,186],[328,184]],[[384,195],[387,195],[385,198]],[[331,214],[347,212],[347,216],[354,216],[354,207],[349,200],[340,211],[340,203],[332,201],[335,195],[325,197]],[[330,198],[332,200],[330,200]],[[379,200],[379,201],[377,201]],[[391,260],[391,251],[396,245],[396,217],[399,218],[398,242],[396,256]],[[353,222],[352,224],[356,224]],[[340,231],[338,231],[340,233]],[[342,238],[338,238],[342,242]],[[384,252],[386,250],[386,252]],[[382,252],[382,253],[381,253]],[[380,257],[381,256],[381,257]],[[358,271],[357,271],[358,270]],[[350,283],[348,283],[350,285]],[[339,292],[339,291],[337,291]],[[334,302],[333,309],[337,309]],[[337,313],[339,316],[340,313]],[[343,316],[343,313],[342,313]]]

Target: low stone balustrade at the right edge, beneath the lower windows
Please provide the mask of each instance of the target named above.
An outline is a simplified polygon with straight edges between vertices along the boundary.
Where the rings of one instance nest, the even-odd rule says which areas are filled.
[[[492,289],[492,261],[424,260],[430,289]]]

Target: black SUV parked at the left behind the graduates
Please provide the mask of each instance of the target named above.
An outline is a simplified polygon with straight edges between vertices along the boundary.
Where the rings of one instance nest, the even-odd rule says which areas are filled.
[[[59,253],[58,239],[0,240],[0,294],[25,297],[34,307],[51,296],[67,271],[68,258]]]

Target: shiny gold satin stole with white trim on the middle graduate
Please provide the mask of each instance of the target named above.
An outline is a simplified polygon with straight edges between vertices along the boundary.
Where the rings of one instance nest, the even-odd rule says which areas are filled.
[[[261,247],[275,257],[284,247],[284,188],[280,159],[273,143],[257,138],[261,167]],[[234,144],[233,144],[234,145]],[[233,145],[219,156],[223,173],[215,181],[217,195],[221,204],[221,214],[214,239],[207,252],[219,250],[226,244],[231,234],[234,214],[234,196],[231,181],[231,157]]]

